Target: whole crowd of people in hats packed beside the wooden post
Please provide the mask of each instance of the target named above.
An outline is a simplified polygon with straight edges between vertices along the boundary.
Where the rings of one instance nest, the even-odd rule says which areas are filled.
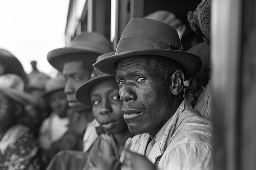
[[[132,18],[116,48],[82,32],[45,56],[53,79],[0,49],[0,169],[211,170],[210,9],[188,13],[204,42],[187,51],[168,11]]]

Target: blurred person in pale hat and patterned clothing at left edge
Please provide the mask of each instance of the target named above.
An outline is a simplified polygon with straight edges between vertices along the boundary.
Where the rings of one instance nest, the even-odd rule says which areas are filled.
[[[18,124],[27,104],[37,100],[24,92],[23,80],[15,74],[0,76],[0,169],[39,170],[39,147],[29,128]]]

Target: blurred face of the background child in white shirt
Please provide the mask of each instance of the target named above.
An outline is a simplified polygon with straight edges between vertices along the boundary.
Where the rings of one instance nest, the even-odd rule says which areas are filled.
[[[63,89],[54,91],[49,95],[49,104],[59,117],[67,117],[67,98]]]

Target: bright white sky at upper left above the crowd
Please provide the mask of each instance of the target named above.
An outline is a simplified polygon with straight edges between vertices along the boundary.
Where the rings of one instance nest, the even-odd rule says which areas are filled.
[[[39,71],[54,77],[46,56],[65,46],[68,5],[69,0],[0,0],[0,48],[15,55],[26,73],[36,60]]]

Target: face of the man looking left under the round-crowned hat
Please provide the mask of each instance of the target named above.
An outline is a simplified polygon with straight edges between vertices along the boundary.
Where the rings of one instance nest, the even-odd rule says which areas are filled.
[[[64,92],[67,96],[68,106],[77,112],[91,110],[91,106],[80,103],[75,96],[76,89],[90,79],[91,72],[83,68],[83,61],[66,62],[63,66],[63,75],[66,78]]]

